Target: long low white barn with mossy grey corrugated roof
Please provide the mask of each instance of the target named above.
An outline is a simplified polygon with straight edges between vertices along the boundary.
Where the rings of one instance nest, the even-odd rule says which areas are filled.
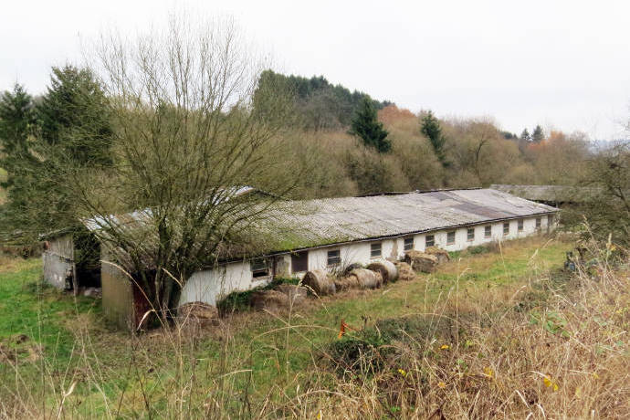
[[[282,202],[260,226],[261,232],[277,238],[274,248],[257,257],[223,260],[194,273],[184,285],[180,305],[201,301],[215,306],[232,291],[264,286],[273,278],[301,278],[313,269],[337,271],[353,263],[399,259],[412,249],[457,251],[548,232],[555,226],[557,212],[550,205],[494,189]],[[76,276],[80,270],[75,269],[68,236],[50,240],[44,255],[45,274],[48,281],[61,286],[64,278]],[[58,251],[62,248],[63,253]],[[101,248],[103,313],[132,329],[147,309],[142,290],[108,264],[111,257]],[[79,276],[71,283],[80,286],[84,282]]]

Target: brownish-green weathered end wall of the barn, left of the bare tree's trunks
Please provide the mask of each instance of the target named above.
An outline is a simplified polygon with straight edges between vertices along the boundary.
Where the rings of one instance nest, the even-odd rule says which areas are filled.
[[[101,247],[100,252],[103,261],[110,261],[105,247]],[[135,327],[135,310],[130,279],[121,269],[103,262],[100,268],[100,282],[105,319],[124,330],[132,330]]]

